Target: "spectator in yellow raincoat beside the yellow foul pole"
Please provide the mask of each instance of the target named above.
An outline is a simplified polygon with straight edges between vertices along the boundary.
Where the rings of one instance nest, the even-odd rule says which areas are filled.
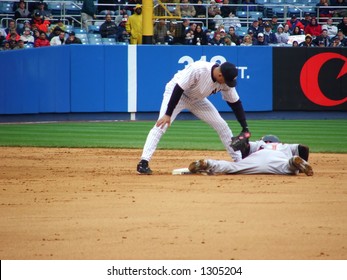
[[[131,15],[125,24],[126,31],[130,34],[130,44],[142,44],[142,6],[137,4],[134,8],[134,14]]]

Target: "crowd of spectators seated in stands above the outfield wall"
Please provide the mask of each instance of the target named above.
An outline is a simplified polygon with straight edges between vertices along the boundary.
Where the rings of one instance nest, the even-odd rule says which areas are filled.
[[[141,0],[98,0],[97,3],[83,1],[81,28],[88,30],[96,16],[101,15],[105,20],[98,30],[102,38],[142,43]],[[292,14],[279,18],[273,14],[254,18],[246,30],[236,14],[240,10],[256,11],[256,0],[171,0],[169,3],[176,3],[173,14],[181,18],[156,20],[153,44],[347,47],[346,0],[320,0],[316,4],[317,12],[307,12],[302,17]],[[20,0],[13,9],[13,20],[6,28],[0,27],[1,50],[23,49],[28,45],[82,44],[78,34],[66,30],[63,21],[53,19],[45,2]],[[121,16],[122,20],[115,22],[115,16]],[[18,21],[23,18],[26,20]],[[207,20],[208,25],[200,19]]]

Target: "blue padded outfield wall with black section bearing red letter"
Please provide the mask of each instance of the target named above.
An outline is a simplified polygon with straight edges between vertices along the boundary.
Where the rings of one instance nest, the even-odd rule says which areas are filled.
[[[0,114],[158,112],[166,83],[197,60],[237,65],[237,91],[246,111],[326,110],[327,104],[329,110],[345,111],[346,57],[346,49],[256,46],[70,45],[2,51]],[[313,88],[305,80],[314,77],[302,69],[315,65],[331,74],[325,74],[327,80],[317,73]],[[331,87],[335,81],[327,93],[324,84]],[[323,100],[329,94],[338,102],[311,106],[318,98],[309,91],[319,86]],[[210,100],[230,112],[220,94]]]

